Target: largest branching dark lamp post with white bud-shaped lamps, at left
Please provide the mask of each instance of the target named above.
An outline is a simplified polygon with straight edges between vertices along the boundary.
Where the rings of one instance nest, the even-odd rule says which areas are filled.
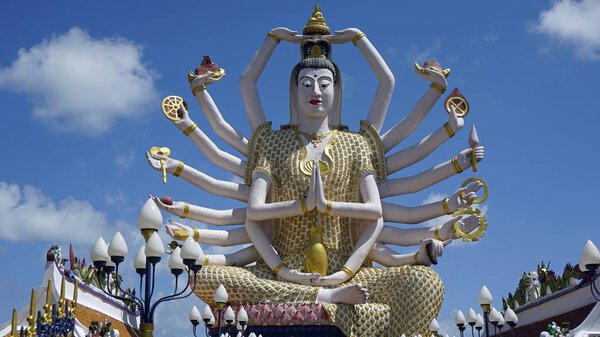
[[[120,285],[119,266],[125,260],[128,249],[121,233],[117,232],[109,246],[102,238],[98,238],[92,247],[92,261],[100,289],[109,297],[134,304],[140,312],[140,331],[142,337],[152,337],[154,331],[154,312],[156,307],[164,302],[182,299],[190,296],[196,287],[196,273],[202,268],[204,255],[200,245],[193,238],[188,238],[181,248],[173,250],[169,259],[171,274],[175,277],[173,294],[164,296],[152,302],[155,287],[156,265],[165,253],[164,245],[158,229],[162,225],[162,215],[156,204],[148,199],[140,210],[138,219],[140,231],[146,244],[134,260],[134,267],[140,276],[139,297],[127,294]],[[187,270],[185,287],[179,289],[179,276]],[[111,287],[111,274],[114,286]],[[193,285],[190,280],[193,274]],[[104,283],[104,286],[103,286]],[[189,291],[188,291],[189,290]],[[186,294],[187,292],[187,294]]]

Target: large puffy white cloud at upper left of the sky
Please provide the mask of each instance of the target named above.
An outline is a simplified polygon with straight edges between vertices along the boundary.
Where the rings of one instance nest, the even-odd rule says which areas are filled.
[[[12,65],[0,68],[0,88],[30,96],[33,116],[55,129],[93,136],[144,114],[157,96],[155,77],[139,45],[73,27],[19,50]]]

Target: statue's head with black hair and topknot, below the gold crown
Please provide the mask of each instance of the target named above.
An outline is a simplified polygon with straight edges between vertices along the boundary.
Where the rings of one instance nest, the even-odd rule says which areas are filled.
[[[302,61],[290,77],[291,125],[298,125],[303,118],[327,116],[330,127],[340,128],[341,74],[330,55],[328,41],[317,38],[302,43]]]

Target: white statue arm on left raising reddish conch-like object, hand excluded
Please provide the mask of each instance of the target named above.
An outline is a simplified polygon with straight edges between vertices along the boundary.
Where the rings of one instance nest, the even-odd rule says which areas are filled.
[[[202,82],[196,84],[194,80],[190,84],[192,89],[194,89],[194,85],[204,86],[205,84]],[[194,90],[192,90],[192,92],[194,92]],[[221,111],[217,108],[217,105],[208,93],[208,90],[201,90],[197,92],[194,97],[196,97],[196,101],[200,104],[206,119],[208,119],[208,122],[213,130],[215,130],[215,133],[241,154],[246,155],[248,152],[248,139],[223,118]]]

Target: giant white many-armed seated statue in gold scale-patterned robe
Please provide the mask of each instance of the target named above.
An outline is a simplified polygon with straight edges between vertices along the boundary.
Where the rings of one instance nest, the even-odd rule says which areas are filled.
[[[273,130],[256,83],[281,41],[299,44],[302,59],[290,77],[289,124]],[[342,76],[331,60],[332,44],[349,42],[379,80],[358,132],[342,124]],[[463,105],[447,104],[448,121],[443,126],[417,144],[386,156],[417,128],[446,90],[449,70],[435,61],[416,70],[431,85],[408,116],[380,136],[394,76],[364,33],[349,28],[331,34],[315,6],[301,35],[286,28],[268,33],[242,75],[241,92],[253,130],[250,139],[223,118],[207,91],[208,85],[223,77],[222,69],[205,59],[188,76],[192,93],[216,134],[245,160],[219,149],[190,119],[180,98],[163,102],[167,117],[212,163],[245,180],[245,184],[218,180],[160,151],[147,154],[157,170],[246,203],[245,208],[214,210],[154,198],[160,208],[181,218],[216,226],[241,225],[213,230],[171,221],[167,231],[177,240],[193,236],[200,243],[218,246],[251,243],[231,254],[207,256],[196,287],[202,300],[211,304],[212,294],[224,284],[231,302],[322,303],[348,336],[426,333],[444,293],[439,276],[428,266],[437,263],[452,240],[477,228],[480,235],[485,220],[473,214],[477,212],[469,205],[480,201],[476,192],[482,184],[475,181],[442,201],[417,207],[382,198],[421,191],[461,173],[481,161],[484,150],[474,142],[452,160],[419,174],[388,177],[425,158],[464,125],[467,106],[463,98]],[[431,228],[384,225],[420,223],[457,210],[467,216]],[[388,245],[415,246],[416,250],[398,254]],[[385,267],[373,267],[373,262]]]

